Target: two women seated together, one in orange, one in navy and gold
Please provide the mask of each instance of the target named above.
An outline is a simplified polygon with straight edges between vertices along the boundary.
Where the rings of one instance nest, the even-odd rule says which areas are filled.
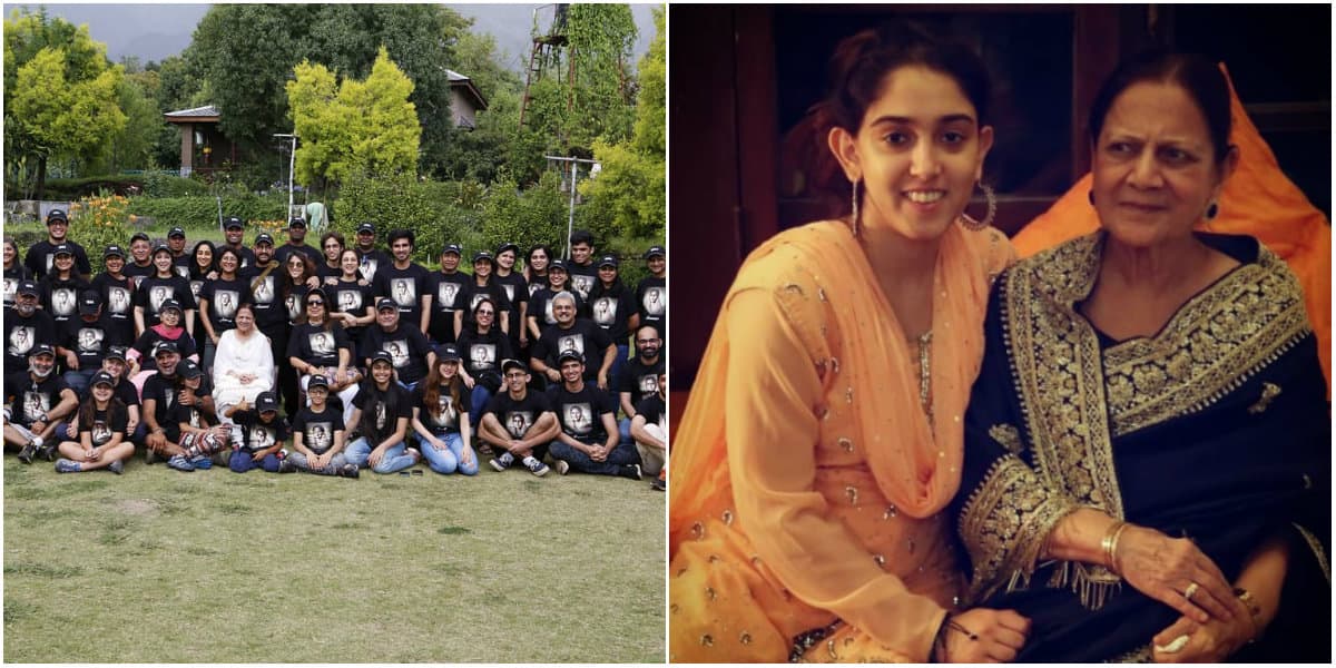
[[[965,215],[969,47],[864,31],[830,86],[848,208],[743,263],[675,434],[669,660],[1329,661],[1328,382],[1295,275],[1210,228],[1220,69],[1120,65],[1101,228],[1019,262]]]

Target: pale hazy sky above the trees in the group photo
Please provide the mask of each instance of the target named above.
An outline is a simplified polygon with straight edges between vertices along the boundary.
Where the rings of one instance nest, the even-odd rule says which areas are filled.
[[[490,33],[497,39],[498,51],[508,56],[505,64],[522,72],[529,57],[529,28],[533,9],[544,8],[552,15],[552,5],[537,4],[450,4],[464,16],[473,17],[473,32]],[[160,61],[180,53],[188,44],[195,24],[208,11],[207,4],[43,4],[47,13],[60,16],[75,25],[88,24],[92,39],[107,44],[107,57],[139,56],[142,63]],[[4,13],[15,7],[36,9],[36,4],[5,4]],[[636,60],[649,51],[655,36],[651,4],[633,4],[636,20]],[[542,16],[542,15],[540,15]],[[541,25],[541,21],[540,21]],[[468,72],[462,72],[468,75]]]

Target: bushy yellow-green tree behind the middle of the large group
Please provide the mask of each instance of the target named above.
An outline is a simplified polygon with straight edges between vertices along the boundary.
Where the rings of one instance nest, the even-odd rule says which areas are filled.
[[[305,183],[341,182],[353,172],[413,172],[422,128],[411,102],[413,81],[381,47],[365,81],[335,88],[325,65],[302,61],[287,84],[293,124],[301,138],[297,174]]]

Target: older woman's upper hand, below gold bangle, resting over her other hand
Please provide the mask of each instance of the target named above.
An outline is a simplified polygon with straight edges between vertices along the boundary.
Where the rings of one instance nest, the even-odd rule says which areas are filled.
[[[1233,588],[1216,562],[1188,538],[1129,525],[1113,561],[1114,569],[1138,592],[1200,624],[1212,617],[1234,617]]]

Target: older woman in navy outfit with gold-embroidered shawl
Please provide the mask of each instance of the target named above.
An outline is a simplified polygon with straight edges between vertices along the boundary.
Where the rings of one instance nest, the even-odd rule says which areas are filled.
[[[1101,230],[997,282],[955,508],[974,597],[1033,620],[1021,661],[1329,660],[1303,295],[1256,239],[1196,230],[1229,126],[1210,61],[1128,61],[1090,112]]]

